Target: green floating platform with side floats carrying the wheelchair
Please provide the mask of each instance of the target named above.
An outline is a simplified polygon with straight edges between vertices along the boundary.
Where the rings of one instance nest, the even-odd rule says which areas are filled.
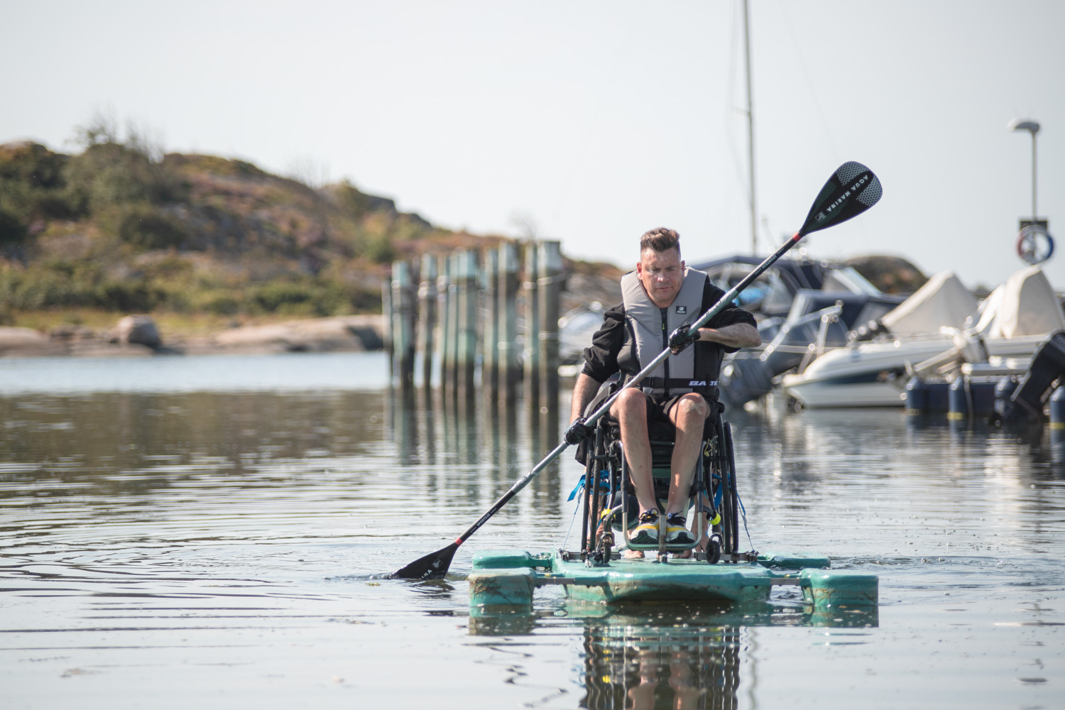
[[[561,587],[571,599],[592,602],[768,601],[773,587],[800,587],[816,608],[875,607],[876,575],[830,569],[826,557],[768,552],[738,562],[695,559],[611,559],[588,566],[575,552],[485,551],[474,556],[470,606],[532,604],[539,587]]]

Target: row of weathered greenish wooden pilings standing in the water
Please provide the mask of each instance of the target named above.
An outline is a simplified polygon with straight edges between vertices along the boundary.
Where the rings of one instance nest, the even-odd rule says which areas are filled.
[[[558,242],[393,262],[381,293],[393,384],[504,402],[521,385],[530,406],[554,410],[562,280]]]

